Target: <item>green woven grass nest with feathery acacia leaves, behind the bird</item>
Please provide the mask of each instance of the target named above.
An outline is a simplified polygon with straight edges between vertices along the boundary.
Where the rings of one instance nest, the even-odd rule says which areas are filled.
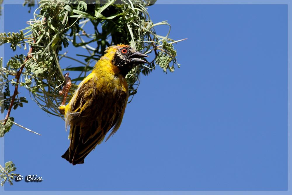
[[[26,49],[27,45],[32,47],[32,54],[26,62],[24,62],[25,55],[15,55],[11,58],[5,68],[7,70],[5,79],[7,82],[9,74],[16,74],[16,71],[25,64],[20,77],[21,82],[12,80],[10,83],[27,88],[34,101],[48,113],[60,115],[58,106],[62,101],[62,96],[58,91],[65,84],[63,71],[79,72],[78,77],[72,78],[73,84],[67,99],[69,101],[78,82],[92,70],[93,65],[108,46],[129,44],[147,54],[155,51],[154,59],[147,66],[137,66],[126,76],[129,95],[132,97],[137,93],[141,74],[149,75],[156,68],[156,64],[165,72],[166,70],[173,72],[175,64],[179,67],[176,61],[176,50],[170,43],[174,40],[168,38],[170,25],[167,21],[154,24],[147,12],[147,7],[155,1],[97,2],[41,0],[27,28],[18,33],[0,34],[0,44],[9,43],[13,51],[18,47]],[[35,2],[26,0],[24,4],[28,4],[31,8]],[[156,34],[155,27],[159,25],[169,27],[166,36]],[[90,30],[87,32],[85,29]],[[84,58],[84,61],[69,56],[69,52],[61,54],[61,51],[69,44],[88,52],[88,55],[78,55]],[[74,60],[76,66],[62,65],[62,58]],[[11,95],[7,89],[5,100],[9,102],[10,98]],[[22,107],[26,102],[24,97],[17,97],[13,108]],[[8,107],[9,103],[4,106],[6,109]]]

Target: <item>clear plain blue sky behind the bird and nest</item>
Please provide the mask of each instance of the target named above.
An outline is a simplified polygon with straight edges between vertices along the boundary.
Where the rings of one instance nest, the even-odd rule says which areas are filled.
[[[14,126],[5,161],[44,181],[5,190],[287,190],[287,6],[154,5],[149,12],[154,22],[168,20],[171,38],[188,38],[175,45],[181,68],[142,77],[118,132],[83,165],[60,157],[69,145],[62,119],[33,101],[13,110],[16,122],[42,136]],[[5,31],[31,17],[6,5]],[[5,61],[13,55],[5,46]]]

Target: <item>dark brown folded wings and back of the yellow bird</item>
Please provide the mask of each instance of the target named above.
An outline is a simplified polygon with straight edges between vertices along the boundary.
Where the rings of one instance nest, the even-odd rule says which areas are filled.
[[[112,133],[117,131],[126,108],[126,92],[100,92],[93,79],[79,88],[72,112],[68,113],[71,133],[69,162],[73,165],[84,163],[84,158],[102,142],[111,128]]]

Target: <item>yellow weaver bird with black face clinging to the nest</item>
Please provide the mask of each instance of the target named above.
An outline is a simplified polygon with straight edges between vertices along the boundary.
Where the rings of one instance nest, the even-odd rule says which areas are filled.
[[[69,103],[59,107],[65,112],[66,129],[70,126],[70,146],[62,155],[73,165],[84,158],[119,129],[128,100],[125,76],[148,57],[129,45],[110,46],[93,71],[79,84]]]

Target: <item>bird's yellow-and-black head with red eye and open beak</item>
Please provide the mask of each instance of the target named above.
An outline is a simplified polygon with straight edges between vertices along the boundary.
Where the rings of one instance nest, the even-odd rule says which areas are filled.
[[[112,64],[120,69],[121,74],[126,76],[135,65],[147,63],[140,58],[149,56],[136,51],[129,45],[114,45],[105,50],[104,57],[111,60]]]

